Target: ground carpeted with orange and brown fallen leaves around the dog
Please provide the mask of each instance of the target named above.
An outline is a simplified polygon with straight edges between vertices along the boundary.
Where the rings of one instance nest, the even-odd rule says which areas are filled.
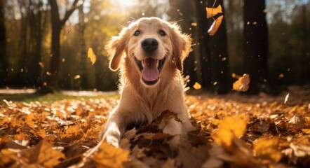
[[[128,130],[121,148],[97,139],[119,99],[2,99],[0,167],[307,167],[309,95],[309,87],[278,97],[191,94],[186,104],[196,130],[188,139],[175,145],[162,133],[167,120],[178,121],[164,111]]]

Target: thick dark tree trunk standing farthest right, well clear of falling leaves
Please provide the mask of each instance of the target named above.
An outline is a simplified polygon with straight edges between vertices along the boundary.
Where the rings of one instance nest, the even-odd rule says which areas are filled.
[[[268,87],[268,30],[265,1],[245,0],[243,6],[243,64],[250,74],[248,94],[267,91]]]

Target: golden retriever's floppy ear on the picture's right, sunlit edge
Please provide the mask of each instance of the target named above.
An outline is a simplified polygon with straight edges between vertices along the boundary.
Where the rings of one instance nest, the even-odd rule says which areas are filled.
[[[183,60],[189,52],[191,52],[191,37],[187,34],[182,34],[180,26],[171,25],[171,38],[173,43],[173,62],[180,71],[183,70]]]

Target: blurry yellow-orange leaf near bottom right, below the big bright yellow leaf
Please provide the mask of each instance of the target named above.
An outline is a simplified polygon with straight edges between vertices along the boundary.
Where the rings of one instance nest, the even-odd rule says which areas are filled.
[[[253,150],[258,158],[278,162],[281,160],[281,151],[278,150],[277,139],[257,139],[253,143]]]

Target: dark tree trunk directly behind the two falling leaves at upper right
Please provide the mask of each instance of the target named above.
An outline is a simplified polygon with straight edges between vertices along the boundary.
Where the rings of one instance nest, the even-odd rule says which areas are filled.
[[[219,5],[222,6],[222,12],[224,13],[222,0],[217,0],[216,3],[214,3],[214,0],[208,0],[208,8],[216,8]],[[209,20],[212,24],[213,19]],[[229,79],[225,16],[215,35],[210,36],[210,51],[212,90],[218,94],[226,94],[231,90],[231,81]]]

